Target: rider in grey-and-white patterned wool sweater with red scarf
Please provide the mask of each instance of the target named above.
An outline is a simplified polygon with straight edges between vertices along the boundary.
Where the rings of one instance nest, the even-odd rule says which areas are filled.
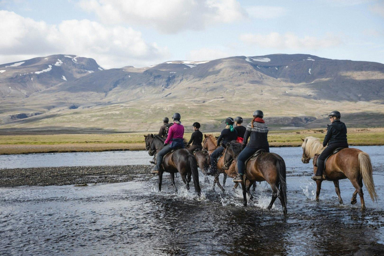
[[[268,144],[268,127],[263,120],[263,111],[257,110],[253,112],[253,120],[248,124],[243,140],[243,150],[237,157],[238,175],[233,178],[233,182],[241,182],[243,180],[245,161],[250,158],[257,150],[264,149],[269,152]],[[249,143],[248,142],[249,138]]]

